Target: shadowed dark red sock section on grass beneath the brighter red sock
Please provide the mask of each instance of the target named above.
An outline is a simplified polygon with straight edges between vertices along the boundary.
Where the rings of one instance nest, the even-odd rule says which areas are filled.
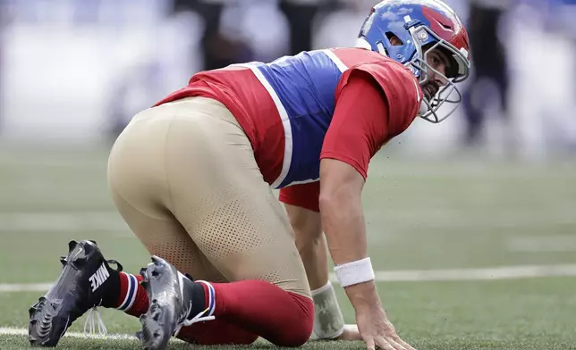
[[[219,319],[183,327],[178,337],[188,343],[202,346],[250,345],[258,339],[258,335]]]

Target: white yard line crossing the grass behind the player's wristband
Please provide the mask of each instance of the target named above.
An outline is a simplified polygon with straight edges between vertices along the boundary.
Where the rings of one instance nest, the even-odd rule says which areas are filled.
[[[376,271],[378,282],[531,279],[576,276],[576,264],[500,266],[479,269]],[[334,275],[332,279],[335,280]],[[0,283],[0,292],[46,292],[51,283]]]

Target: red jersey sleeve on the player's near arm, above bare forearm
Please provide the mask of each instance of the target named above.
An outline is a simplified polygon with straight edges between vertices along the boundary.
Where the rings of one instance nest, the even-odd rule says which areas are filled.
[[[370,159],[407,129],[419,110],[421,91],[408,74],[394,63],[370,63],[344,72],[320,159],[346,162],[366,179]]]

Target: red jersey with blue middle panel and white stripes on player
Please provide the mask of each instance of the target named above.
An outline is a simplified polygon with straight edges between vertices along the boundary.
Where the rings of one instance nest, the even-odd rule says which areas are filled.
[[[335,48],[201,71],[158,104],[188,96],[224,104],[280,200],[318,211],[320,159],[346,162],[366,178],[370,158],[410,126],[423,94],[401,63]]]

